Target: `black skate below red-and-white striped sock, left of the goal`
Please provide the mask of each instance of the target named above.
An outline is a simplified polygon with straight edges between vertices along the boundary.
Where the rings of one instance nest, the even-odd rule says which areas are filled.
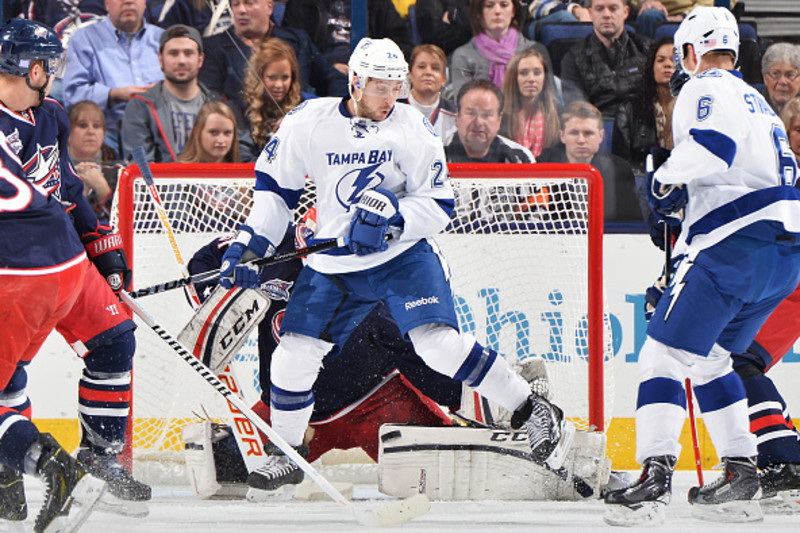
[[[91,447],[78,448],[78,461],[87,472],[105,481],[108,490],[97,504],[98,511],[123,516],[147,516],[145,503],[152,496],[149,485],[133,478],[114,454],[95,452]]]

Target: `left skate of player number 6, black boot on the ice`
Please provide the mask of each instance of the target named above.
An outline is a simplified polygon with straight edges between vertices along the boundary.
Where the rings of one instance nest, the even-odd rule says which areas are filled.
[[[664,522],[672,495],[672,472],[677,459],[672,455],[649,457],[642,475],[630,487],[605,495],[608,510],[603,521],[612,526],[658,525]]]

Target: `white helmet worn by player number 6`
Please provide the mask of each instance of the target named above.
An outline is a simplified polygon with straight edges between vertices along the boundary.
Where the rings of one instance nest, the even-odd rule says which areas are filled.
[[[739,25],[724,7],[695,7],[681,22],[674,40],[677,59],[686,72],[689,72],[684,64],[687,44],[692,45],[698,64],[709,52],[731,52],[734,63],[739,56]],[[694,75],[694,72],[689,74]]]

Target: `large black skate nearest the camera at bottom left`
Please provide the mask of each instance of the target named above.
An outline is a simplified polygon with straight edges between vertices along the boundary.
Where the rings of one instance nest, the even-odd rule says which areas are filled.
[[[76,531],[105,492],[105,482],[88,474],[49,433],[39,435],[25,460],[26,465],[28,460],[36,461],[36,473],[45,488],[44,503],[33,530],[36,533]]]

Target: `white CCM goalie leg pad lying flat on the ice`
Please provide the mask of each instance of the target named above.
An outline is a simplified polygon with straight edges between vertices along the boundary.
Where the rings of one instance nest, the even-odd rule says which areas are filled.
[[[558,472],[530,460],[524,431],[384,425],[381,492],[438,500],[583,500],[608,482],[605,435],[579,431]],[[583,477],[579,477],[578,475]]]

